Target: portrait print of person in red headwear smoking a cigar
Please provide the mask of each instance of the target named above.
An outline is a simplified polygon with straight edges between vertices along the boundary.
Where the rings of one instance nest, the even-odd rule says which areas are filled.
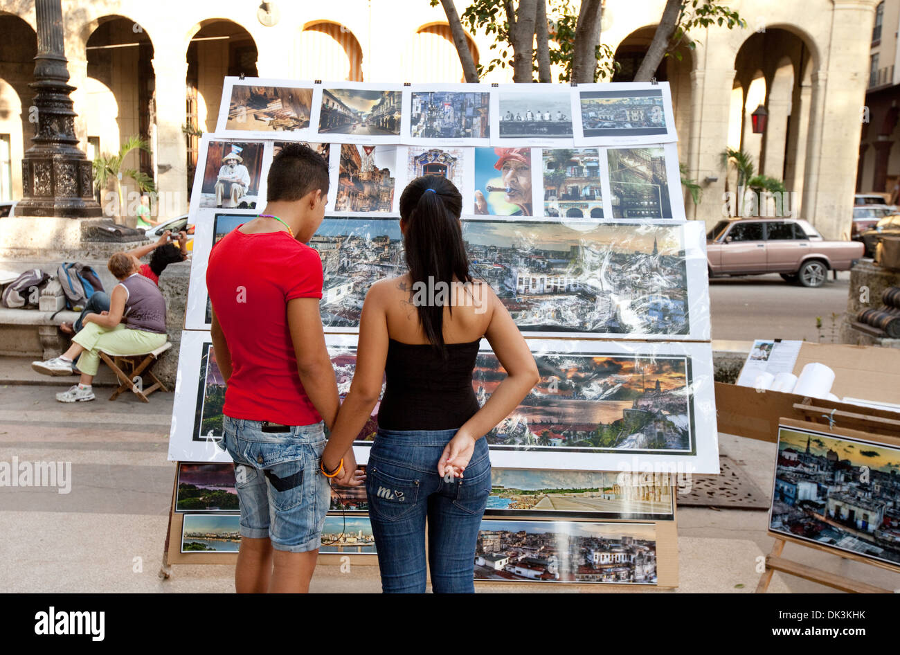
[[[531,148],[475,148],[475,171],[476,214],[534,215]]]

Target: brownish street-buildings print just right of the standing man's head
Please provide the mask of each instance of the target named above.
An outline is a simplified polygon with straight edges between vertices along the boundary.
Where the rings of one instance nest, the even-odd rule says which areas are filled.
[[[340,147],[336,211],[392,211],[397,176],[396,146]]]

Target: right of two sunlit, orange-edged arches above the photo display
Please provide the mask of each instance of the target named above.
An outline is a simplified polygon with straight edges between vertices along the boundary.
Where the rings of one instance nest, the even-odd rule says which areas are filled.
[[[468,33],[466,43],[477,65],[478,48]],[[446,22],[423,25],[416,31],[407,47],[403,74],[408,82],[465,82],[453,33]]]

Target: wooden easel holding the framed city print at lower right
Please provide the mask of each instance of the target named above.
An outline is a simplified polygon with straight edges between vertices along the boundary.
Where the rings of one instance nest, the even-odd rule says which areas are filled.
[[[893,427],[900,432],[900,421],[896,421],[893,419],[886,419],[883,417],[870,417],[867,416],[864,412],[864,408],[860,408],[860,411],[842,411],[840,409],[829,409],[824,407],[818,407],[813,405],[811,402],[807,403],[795,403],[794,409],[797,412],[800,412],[806,416],[805,421],[796,421],[791,420],[789,418],[780,419],[779,423],[783,426],[791,426],[791,427],[800,427],[809,429],[810,427],[815,426],[816,429],[825,431],[825,428],[833,429],[833,426],[842,423],[847,426],[853,426],[854,428],[869,428],[869,429],[879,429],[884,430],[886,427]],[[810,424],[814,424],[811,426]],[[888,426],[886,424],[893,424],[892,426]],[[895,434],[898,434],[896,432]],[[865,439],[869,441],[875,441],[880,443],[885,443],[893,446],[900,445],[900,439],[896,437],[886,437],[884,435],[873,435],[871,433],[861,432],[858,429],[842,429],[839,433],[840,435],[851,436],[857,439]],[[836,434],[837,436],[837,434]],[[777,473],[776,473],[777,475]],[[867,558],[860,557],[858,555],[854,555],[850,552],[844,552],[841,554],[837,554],[833,551],[833,549],[825,548],[824,546],[817,545],[815,543],[809,543],[806,541],[794,540],[789,537],[785,537],[783,534],[773,533],[771,530],[769,531],[770,536],[775,538],[775,544],[772,546],[771,552],[766,556],[766,570],[762,573],[760,578],[760,582],[756,587],[757,594],[766,593],[769,588],[769,584],[772,579],[772,574],[775,571],[781,571],[782,573],[787,573],[788,575],[796,576],[797,578],[802,578],[806,580],[810,580],[812,582],[817,582],[820,585],[824,585],[825,587],[831,587],[835,589],[839,589],[841,591],[845,591],[851,594],[892,594],[895,593],[894,589],[887,589],[876,587],[875,585],[869,585],[865,582],[860,582],[858,580],[850,579],[842,575],[838,575],[836,573],[831,573],[829,571],[815,569],[811,566],[806,566],[806,564],[801,564],[797,561],[791,561],[785,559],[781,556],[781,552],[784,551],[785,544],[788,541],[792,543],[797,543],[807,548],[815,548],[816,550],[828,552],[833,555],[837,555],[838,557],[842,557],[845,559],[861,561],[865,564],[869,564],[870,566],[878,566],[883,569],[900,571],[900,567],[892,566],[890,564],[883,564],[878,561],[872,561]]]

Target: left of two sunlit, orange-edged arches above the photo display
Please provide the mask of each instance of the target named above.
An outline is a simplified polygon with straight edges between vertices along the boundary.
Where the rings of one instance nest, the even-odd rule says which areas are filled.
[[[313,22],[297,40],[301,79],[363,81],[363,49],[352,31],[335,22]]]

